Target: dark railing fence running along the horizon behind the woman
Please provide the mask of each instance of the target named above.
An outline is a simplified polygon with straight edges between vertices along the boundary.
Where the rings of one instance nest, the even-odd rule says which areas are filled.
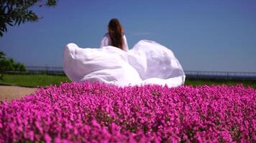
[[[24,74],[63,74],[63,67],[55,66],[26,66],[27,72]],[[22,74],[21,71],[6,71],[10,74]],[[250,79],[256,80],[256,72],[237,71],[191,71],[185,70],[186,78],[189,79]]]

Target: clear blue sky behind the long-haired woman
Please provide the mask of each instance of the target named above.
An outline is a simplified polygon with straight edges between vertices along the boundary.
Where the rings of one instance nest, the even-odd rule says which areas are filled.
[[[35,8],[43,19],[9,27],[6,56],[32,66],[62,66],[70,42],[99,47],[111,18],[124,26],[129,48],[141,39],[172,49],[186,70],[256,71],[256,1],[60,0]]]

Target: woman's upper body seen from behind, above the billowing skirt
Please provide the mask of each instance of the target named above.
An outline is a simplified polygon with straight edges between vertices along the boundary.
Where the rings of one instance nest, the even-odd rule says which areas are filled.
[[[111,19],[108,26],[109,33],[101,40],[101,48],[104,46],[115,46],[124,51],[129,51],[124,29],[118,19]]]

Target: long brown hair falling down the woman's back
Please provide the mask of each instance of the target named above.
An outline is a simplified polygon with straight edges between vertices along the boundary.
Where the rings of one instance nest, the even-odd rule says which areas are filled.
[[[123,49],[124,46],[124,29],[118,19],[111,19],[109,21],[109,36],[111,39],[111,46],[116,46],[119,49]]]

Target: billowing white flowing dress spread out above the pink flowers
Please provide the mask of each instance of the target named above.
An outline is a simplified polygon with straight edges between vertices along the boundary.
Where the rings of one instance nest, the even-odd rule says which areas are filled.
[[[178,87],[185,82],[185,74],[173,51],[155,41],[141,40],[124,50],[109,45],[109,35],[101,41],[101,48],[81,48],[70,43],[63,53],[63,69],[73,82],[105,82],[119,87],[159,84]]]

